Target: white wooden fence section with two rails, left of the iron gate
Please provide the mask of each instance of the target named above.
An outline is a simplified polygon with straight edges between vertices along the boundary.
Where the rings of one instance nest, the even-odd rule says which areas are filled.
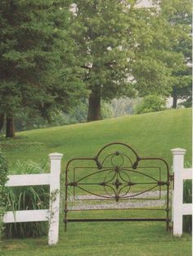
[[[7,212],[3,222],[49,222],[48,245],[56,245],[59,231],[60,174],[62,154],[50,154],[51,173],[10,175],[6,186],[50,186],[49,209],[21,210]]]

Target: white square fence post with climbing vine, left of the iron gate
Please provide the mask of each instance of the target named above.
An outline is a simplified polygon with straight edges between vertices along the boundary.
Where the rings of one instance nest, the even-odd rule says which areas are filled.
[[[50,180],[50,210],[49,210],[49,232],[48,245],[56,245],[59,233],[59,213],[60,213],[60,174],[62,154],[52,153],[51,160],[51,180]]]

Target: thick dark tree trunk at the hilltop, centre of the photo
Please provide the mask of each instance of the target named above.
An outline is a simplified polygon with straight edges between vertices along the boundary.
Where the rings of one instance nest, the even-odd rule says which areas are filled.
[[[88,122],[101,120],[101,91],[92,90],[88,100]]]

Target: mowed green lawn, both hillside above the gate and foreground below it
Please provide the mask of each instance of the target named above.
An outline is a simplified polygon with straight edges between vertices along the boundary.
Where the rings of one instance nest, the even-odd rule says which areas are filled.
[[[16,159],[31,159],[37,163],[48,159],[51,152],[60,152],[64,154],[64,169],[69,159],[93,157],[102,146],[112,141],[127,143],[141,157],[162,157],[168,161],[169,167],[172,165],[170,150],[182,147],[187,150],[186,163],[191,163],[191,109],[43,128],[18,132],[17,136],[16,140],[1,141],[7,150],[10,166],[14,166]],[[92,218],[92,212],[87,214]],[[97,214],[101,218],[113,217],[114,214],[125,218],[131,213],[100,211]],[[149,211],[141,212],[144,217],[148,214]],[[69,223],[65,232],[63,217],[61,213],[58,245],[49,247],[46,236],[5,240],[3,253],[10,256],[191,256],[191,236],[184,234],[182,238],[173,238],[166,231],[164,222],[78,222]]]

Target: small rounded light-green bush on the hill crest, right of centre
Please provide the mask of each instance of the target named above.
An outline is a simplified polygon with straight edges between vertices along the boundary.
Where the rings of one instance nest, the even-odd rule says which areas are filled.
[[[149,95],[143,98],[141,103],[136,107],[136,114],[156,112],[165,110],[166,99],[158,95]]]

